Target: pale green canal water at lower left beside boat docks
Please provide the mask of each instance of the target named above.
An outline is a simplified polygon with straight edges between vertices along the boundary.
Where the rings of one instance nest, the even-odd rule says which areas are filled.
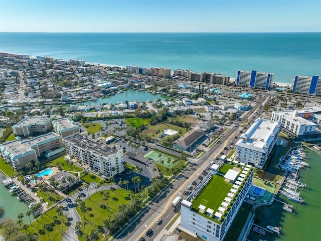
[[[23,213],[23,221],[29,223],[29,217],[26,215],[27,210],[29,210],[27,204],[20,199],[17,199],[15,194],[9,192],[9,189],[2,184],[2,181],[5,179],[7,179],[7,177],[0,172],[0,206],[5,208],[4,217],[18,220],[18,214]],[[33,221],[35,218],[30,215],[30,219]]]

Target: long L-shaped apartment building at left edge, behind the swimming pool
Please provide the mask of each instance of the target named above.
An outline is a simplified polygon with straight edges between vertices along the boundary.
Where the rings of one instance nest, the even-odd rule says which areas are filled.
[[[26,167],[27,163],[37,161],[38,157],[58,156],[64,152],[61,136],[54,132],[25,141],[11,141],[0,145],[3,159],[11,163],[13,168]]]

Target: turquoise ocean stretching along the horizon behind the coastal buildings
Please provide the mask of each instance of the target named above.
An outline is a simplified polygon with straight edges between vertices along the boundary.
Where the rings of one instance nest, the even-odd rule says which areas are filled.
[[[321,76],[321,33],[0,33],[0,51],[115,66]]]

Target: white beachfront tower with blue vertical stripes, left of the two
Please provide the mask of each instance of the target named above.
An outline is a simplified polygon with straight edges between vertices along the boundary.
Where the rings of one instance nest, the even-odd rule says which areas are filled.
[[[272,88],[273,76],[272,73],[262,73],[256,70],[239,70],[236,72],[236,85],[269,90]]]

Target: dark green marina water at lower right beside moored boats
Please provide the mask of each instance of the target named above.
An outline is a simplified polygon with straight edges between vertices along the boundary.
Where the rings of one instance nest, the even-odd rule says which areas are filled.
[[[277,195],[276,199],[287,202],[295,208],[295,214],[286,212],[282,209],[282,204],[275,202],[271,206],[258,209],[258,225],[281,226],[281,234],[268,234],[260,237],[258,234],[250,232],[248,239],[267,241],[287,241],[287,240],[320,240],[321,237],[321,153],[307,151],[310,156],[309,168],[302,169],[300,182],[305,182],[306,187],[302,191],[304,202],[299,204],[288,200],[283,195]]]

